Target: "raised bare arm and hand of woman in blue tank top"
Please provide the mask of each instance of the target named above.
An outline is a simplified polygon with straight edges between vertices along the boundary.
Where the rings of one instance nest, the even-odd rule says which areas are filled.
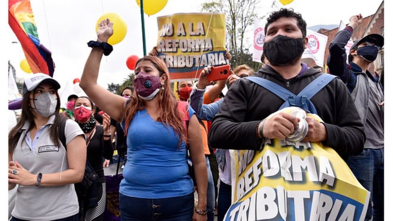
[[[107,20],[101,21],[97,30],[97,38],[102,42],[108,42],[113,34],[112,23]],[[101,110],[108,113],[116,121],[120,121],[126,98],[111,93],[109,90],[97,84],[98,71],[104,51],[101,48],[93,48],[84,65],[81,83],[79,84],[87,96]]]

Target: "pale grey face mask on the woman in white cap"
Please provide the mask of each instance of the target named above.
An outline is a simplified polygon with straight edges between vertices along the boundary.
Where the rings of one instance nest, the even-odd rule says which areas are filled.
[[[49,117],[56,111],[57,98],[49,92],[42,93],[33,99],[34,109],[40,115]]]

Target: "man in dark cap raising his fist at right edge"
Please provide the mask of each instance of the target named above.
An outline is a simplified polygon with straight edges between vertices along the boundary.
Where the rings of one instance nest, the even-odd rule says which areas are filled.
[[[362,20],[362,15],[352,16],[349,25],[337,33],[329,46],[328,66],[332,74],[346,83],[365,125],[365,149],[349,157],[347,164],[371,193],[365,220],[379,221],[384,220],[384,92],[379,76],[367,69],[383,47],[384,37],[369,34],[355,41],[347,65],[344,46]]]

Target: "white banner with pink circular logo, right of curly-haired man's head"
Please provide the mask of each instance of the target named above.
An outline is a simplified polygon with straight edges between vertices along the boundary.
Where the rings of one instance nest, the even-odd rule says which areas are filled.
[[[309,43],[303,52],[302,58],[312,58],[318,66],[323,67],[328,36],[307,29],[306,37],[309,39]]]

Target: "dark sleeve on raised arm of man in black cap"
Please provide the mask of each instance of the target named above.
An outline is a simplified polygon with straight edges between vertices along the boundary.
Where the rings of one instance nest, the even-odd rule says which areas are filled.
[[[327,61],[330,74],[338,76],[344,83],[348,83],[351,77],[345,53],[345,45],[352,35],[348,28],[350,27],[338,31],[336,37],[330,43]]]

